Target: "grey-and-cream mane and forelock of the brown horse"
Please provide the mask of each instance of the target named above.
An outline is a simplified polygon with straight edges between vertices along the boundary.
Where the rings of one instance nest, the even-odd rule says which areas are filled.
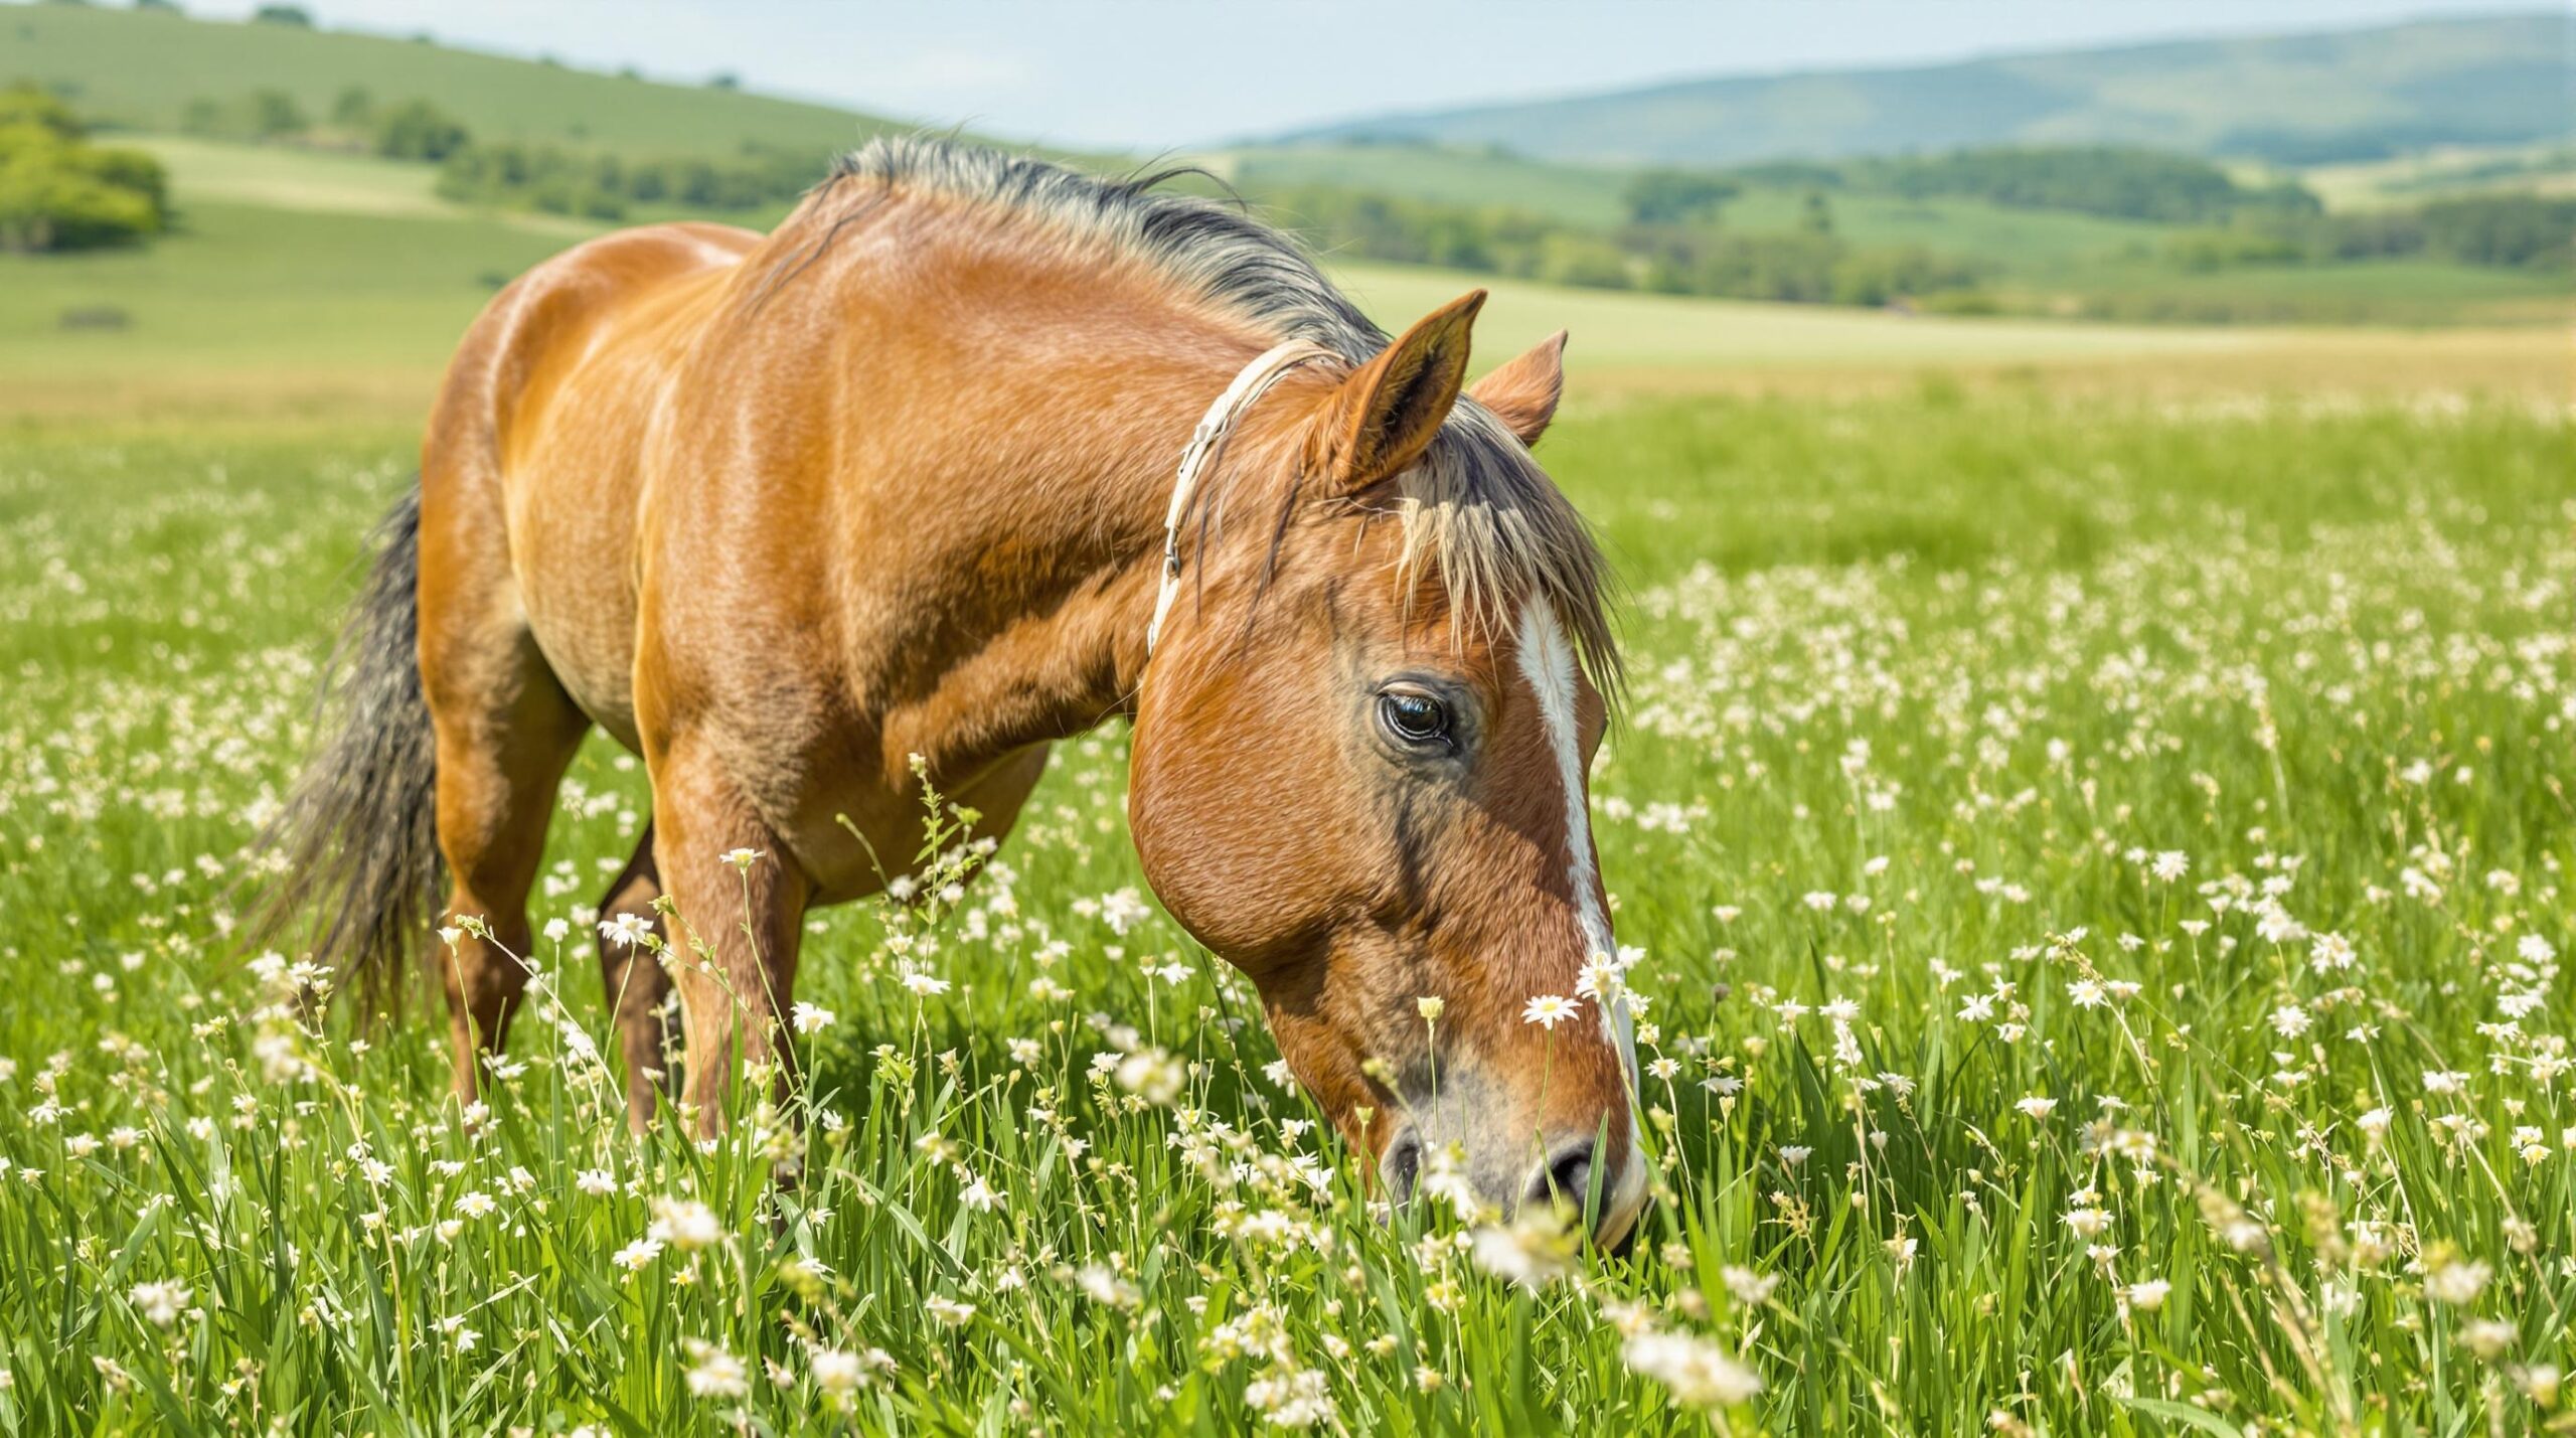
[[[1242,204],[1157,188],[1185,173],[1100,178],[1028,155],[907,134],[871,139],[835,160],[814,201],[829,201],[853,183],[868,193],[860,201],[866,209],[896,188],[992,201],[1066,237],[1144,260],[1273,338],[1311,340],[1352,366],[1386,348],[1386,332],[1288,235]],[[860,214],[845,211],[842,224]],[[1396,515],[1404,523],[1396,580],[1406,593],[1432,567],[1455,611],[1494,631],[1510,631],[1525,595],[1543,595],[1574,637],[1584,670],[1615,698],[1607,564],[1574,505],[1484,405],[1458,399],[1422,464],[1399,477]]]

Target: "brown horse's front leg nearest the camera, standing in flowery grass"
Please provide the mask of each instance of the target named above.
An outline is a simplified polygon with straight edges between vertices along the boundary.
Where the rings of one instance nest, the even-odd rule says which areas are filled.
[[[654,868],[677,910],[672,979],[688,1033],[683,1106],[698,1134],[724,1126],[737,1059],[786,1077],[778,1021],[796,992],[809,884],[714,765],[677,750],[654,771]]]

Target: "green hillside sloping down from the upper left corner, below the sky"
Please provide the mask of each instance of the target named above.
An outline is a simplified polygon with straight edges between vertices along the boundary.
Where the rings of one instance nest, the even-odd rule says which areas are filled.
[[[327,18],[327,15],[325,15]],[[0,5],[0,85],[36,80],[98,121],[180,129],[191,101],[283,90],[327,116],[348,88],[379,103],[433,101],[474,139],[631,155],[737,155],[744,144],[850,149],[902,121],[276,23],[193,21],[93,5]]]

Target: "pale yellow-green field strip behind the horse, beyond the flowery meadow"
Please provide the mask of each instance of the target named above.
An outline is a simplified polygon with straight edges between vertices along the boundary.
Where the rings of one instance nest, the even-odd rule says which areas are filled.
[[[278,412],[417,415],[456,335],[520,268],[595,227],[479,214],[379,160],[144,139],[183,229],[139,250],[0,258],[0,423]],[[196,196],[196,198],[188,198]],[[2548,330],[2287,330],[1893,317],[1862,309],[1553,289],[1401,265],[1340,265],[1401,325],[1466,289],[1494,302],[1479,353],[1566,327],[1574,405],[1674,389],[1883,389],[1924,376],[2115,392],[2563,394]],[[2213,276],[2213,283],[2236,276]],[[2439,278],[2439,276],[2432,276]],[[121,327],[67,327],[108,309]]]

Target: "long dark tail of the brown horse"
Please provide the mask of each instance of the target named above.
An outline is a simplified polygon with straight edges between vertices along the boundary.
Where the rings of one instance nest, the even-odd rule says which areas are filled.
[[[420,691],[420,487],[376,526],[376,564],[322,670],[319,747],[260,835],[276,879],[252,943],[309,951],[335,990],[402,997],[440,902],[438,747]]]

